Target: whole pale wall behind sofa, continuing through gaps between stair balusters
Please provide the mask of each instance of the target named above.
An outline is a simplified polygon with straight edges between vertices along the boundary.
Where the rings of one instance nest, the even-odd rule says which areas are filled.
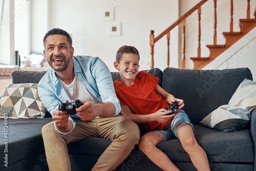
[[[51,28],[61,28],[73,35],[75,55],[99,56],[115,71],[113,62],[119,47],[131,45],[138,48],[141,61],[140,69],[149,69],[151,64],[149,35],[155,31],[157,37],[179,16],[194,7],[200,0],[37,0],[32,6],[32,43],[31,50],[42,52],[42,37]],[[112,4],[111,4],[112,3]],[[229,31],[230,0],[217,2],[217,43],[225,44],[222,32]],[[239,19],[246,18],[246,1],[234,0],[233,27],[239,31]],[[251,17],[256,1],[250,1]],[[115,6],[115,21],[121,22],[121,36],[108,36],[108,22],[100,19],[101,8]],[[220,24],[221,23],[221,24]],[[202,6],[201,14],[201,56],[208,57],[206,45],[213,44],[214,36],[214,1],[207,1]],[[166,65],[166,36],[155,44],[154,67],[163,70]],[[181,26],[170,32],[170,67],[181,65]],[[193,69],[190,57],[197,56],[198,15],[195,11],[186,19],[186,68]],[[178,60],[178,57],[180,58]],[[251,58],[248,58],[250,61]],[[215,68],[211,68],[215,69]]]

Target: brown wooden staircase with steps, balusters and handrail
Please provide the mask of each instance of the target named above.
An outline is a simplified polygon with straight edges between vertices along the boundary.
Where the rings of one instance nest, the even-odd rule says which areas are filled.
[[[250,0],[247,0],[247,18],[240,19],[240,32],[233,32],[233,0],[230,0],[230,31],[223,32],[223,36],[226,39],[225,45],[217,45],[217,0],[214,0],[214,44],[206,45],[209,48],[210,54],[208,57],[201,57],[201,6],[208,0],[202,0],[195,7],[191,8],[187,13],[181,16],[173,25],[167,28],[156,38],[154,37],[154,31],[151,30],[150,35],[150,46],[151,46],[151,56],[152,63],[151,68],[154,67],[154,44],[157,42],[163,35],[166,34],[167,37],[167,66],[169,67],[169,32],[178,24],[182,23],[182,69],[185,69],[185,19],[195,10],[198,10],[198,55],[197,57],[190,57],[194,62],[194,69],[203,69],[208,63],[230,48],[235,42],[240,38],[246,35],[250,30],[256,27],[256,10],[254,12],[255,18],[250,18]]]

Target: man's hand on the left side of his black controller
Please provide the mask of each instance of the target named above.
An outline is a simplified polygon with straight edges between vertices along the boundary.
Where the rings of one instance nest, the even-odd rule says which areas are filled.
[[[69,101],[66,100],[65,103],[68,103]],[[58,109],[54,110],[52,113],[52,119],[54,120],[57,129],[60,132],[68,133],[72,130],[72,122],[69,119],[68,111],[59,111]]]

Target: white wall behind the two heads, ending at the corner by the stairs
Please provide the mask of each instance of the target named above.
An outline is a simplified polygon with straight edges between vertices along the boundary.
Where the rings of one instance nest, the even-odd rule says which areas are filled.
[[[114,3],[115,2],[115,3]],[[47,3],[50,26],[72,33],[75,55],[99,56],[111,71],[115,54],[123,45],[135,46],[141,56],[140,70],[150,69],[150,30],[158,36],[178,19],[178,0],[37,0],[32,1],[32,51],[42,52],[42,38],[47,32]],[[112,4],[111,4],[112,3]],[[121,22],[121,36],[108,36],[108,22],[100,19],[101,8],[115,6],[115,21]],[[171,33],[172,67],[178,67],[178,30]],[[164,51],[161,50],[164,46]],[[166,40],[155,46],[155,67],[166,68]],[[159,60],[164,58],[164,61]]]

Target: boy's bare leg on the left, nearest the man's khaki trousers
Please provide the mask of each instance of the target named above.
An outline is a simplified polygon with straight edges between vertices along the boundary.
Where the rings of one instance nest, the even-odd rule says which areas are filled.
[[[152,162],[163,170],[179,170],[174,163],[156,147],[156,145],[162,141],[165,141],[162,135],[149,132],[140,138],[139,148]]]

